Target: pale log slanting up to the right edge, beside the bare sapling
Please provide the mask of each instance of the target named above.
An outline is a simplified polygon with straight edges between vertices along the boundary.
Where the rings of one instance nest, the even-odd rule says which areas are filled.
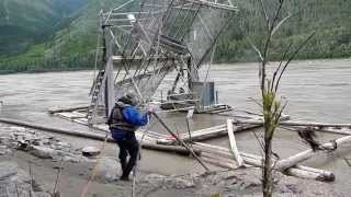
[[[342,138],[339,138],[337,140],[335,140],[335,142],[328,142],[328,143],[324,143],[320,146],[321,150],[327,149],[327,150],[333,150],[335,148],[339,147],[342,143],[346,142],[350,142],[351,141],[351,136],[346,136]],[[303,161],[308,160],[312,157],[317,155],[319,152],[321,152],[321,150],[312,150],[308,149],[306,151],[303,151],[298,154],[295,154],[293,157],[286,158],[284,160],[281,160],[276,163],[276,169],[280,171],[283,171],[285,169],[292,167],[294,165],[296,165],[297,163],[301,163]]]

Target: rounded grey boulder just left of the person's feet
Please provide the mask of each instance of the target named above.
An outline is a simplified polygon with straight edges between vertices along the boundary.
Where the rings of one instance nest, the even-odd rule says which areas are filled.
[[[118,161],[111,158],[101,158],[99,162],[97,179],[109,183],[120,178],[122,170]]]

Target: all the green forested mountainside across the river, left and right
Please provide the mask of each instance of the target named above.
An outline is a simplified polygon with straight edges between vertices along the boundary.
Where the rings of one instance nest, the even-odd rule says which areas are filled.
[[[65,1],[70,2],[63,3]],[[265,1],[269,5],[276,0]],[[271,51],[273,59],[279,58],[287,45],[301,43],[313,32],[316,35],[297,58],[351,57],[350,0],[287,1],[290,3],[285,11],[292,16],[274,37]],[[0,0],[0,70],[11,72],[91,68],[99,11],[123,2],[126,0]],[[248,44],[248,40],[259,44],[263,32],[264,23],[257,2],[236,1],[240,11],[218,42],[217,62],[257,60]],[[9,8],[14,4],[16,9],[23,8],[20,9],[22,14],[9,14]],[[14,48],[9,49],[11,47]],[[13,51],[20,51],[20,55]]]

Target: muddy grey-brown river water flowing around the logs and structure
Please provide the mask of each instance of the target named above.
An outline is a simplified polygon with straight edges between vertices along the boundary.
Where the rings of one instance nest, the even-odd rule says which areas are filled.
[[[202,73],[204,74],[204,73]],[[87,130],[86,127],[52,117],[47,109],[57,106],[82,106],[89,104],[93,71],[21,73],[0,76],[0,117],[15,118],[52,127]],[[167,90],[173,74],[166,78],[160,90]],[[250,97],[259,97],[258,65],[236,63],[213,66],[210,80],[215,81],[219,102],[236,109],[259,112]],[[158,94],[158,93],[157,93]],[[351,123],[351,59],[307,60],[293,62],[281,81],[280,95],[286,100],[288,114],[294,120],[325,123]],[[182,115],[176,120],[182,127]],[[177,119],[177,118],[176,118]],[[179,123],[178,123],[179,121]],[[224,124],[224,117],[195,115],[192,129]],[[319,135],[321,141],[337,138],[332,135]],[[73,139],[81,144],[81,139]],[[259,154],[259,147],[252,132],[237,135],[238,147],[246,152]],[[227,146],[227,139],[211,142]],[[94,143],[86,140],[83,143]],[[305,150],[307,147],[298,140],[295,132],[279,130],[274,149],[285,158]],[[344,194],[351,193],[351,144],[344,144],[339,151],[317,157],[305,164],[335,172],[337,181],[332,184]],[[115,148],[110,147],[113,155]],[[147,151],[140,166],[145,171],[165,174],[184,174],[201,171],[193,160],[181,157]],[[157,162],[155,162],[157,161]]]

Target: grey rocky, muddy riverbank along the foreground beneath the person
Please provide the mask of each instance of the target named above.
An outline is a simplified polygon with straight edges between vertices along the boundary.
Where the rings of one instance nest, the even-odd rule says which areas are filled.
[[[99,155],[95,149],[75,149],[59,137],[23,127],[0,125],[0,196],[77,197]],[[94,153],[93,153],[94,152]],[[98,154],[94,157],[94,154]],[[64,167],[61,169],[61,162]],[[31,167],[30,167],[31,166]],[[57,179],[58,170],[61,175]],[[139,172],[137,196],[262,196],[260,169],[239,169],[185,175]],[[102,157],[88,196],[131,196],[132,183],[121,182],[118,161]],[[275,174],[274,196],[342,196],[327,183]],[[55,182],[57,190],[53,194]]]

